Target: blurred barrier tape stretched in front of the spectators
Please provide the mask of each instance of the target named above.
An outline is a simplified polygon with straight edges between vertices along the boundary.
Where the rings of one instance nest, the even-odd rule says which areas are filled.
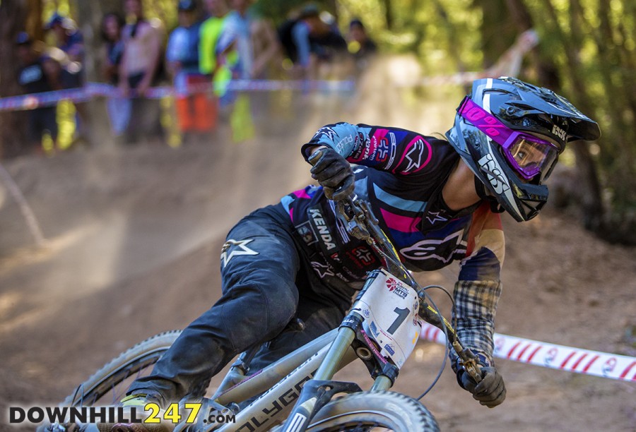
[[[350,80],[231,80],[228,83],[216,85],[216,90],[221,89],[237,92],[271,92],[280,90],[350,92],[354,89],[354,83]],[[212,83],[189,86],[189,93],[208,92],[211,90],[214,90]],[[145,97],[148,97],[149,99],[161,99],[162,97],[172,95],[175,95],[175,89],[170,85],[164,85],[149,88]],[[122,93],[119,88],[114,85],[104,83],[86,83],[86,85],[82,88],[1,97],[0,112],[23,111],[28,109],[51,107],[61,100],[86,102],[93,97],[122,97]]]

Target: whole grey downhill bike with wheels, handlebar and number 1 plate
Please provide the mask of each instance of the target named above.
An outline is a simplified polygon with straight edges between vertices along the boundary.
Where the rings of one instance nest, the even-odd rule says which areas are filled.
[[[476,382],[481,380],[476,356],[462,347],[451,323],[428,295],[432,286],[420,287],[413,279],[379,228],[370,205],[350,196],[336,206],[348,232],[367,241],[382,258],[382,268],[369,272],[338,328],[251,374],[249,364],[259,346],[248,349],[238,356],[211,397],[203,396],[209,381],[201,383],[179,402],[181,407],[197,402],[197,415],[177,423],[175,431],[438,431],[423,404],[389,391],[416,345],[420,320],[441,328],[449,341],[447,354],[454,349],[466,372]],[[288,330],[300,330],[302,325],[293,321]],[[61,405],[116,403],[131,380],[148,373],[178,335],[177,330],[165,332],[123,352]],[[356,358],[374,378],[369,390],[333,380],[337,371]],[[219,418],[233,421],[223,423]],[[64,430],[59,427],[55,430]]]

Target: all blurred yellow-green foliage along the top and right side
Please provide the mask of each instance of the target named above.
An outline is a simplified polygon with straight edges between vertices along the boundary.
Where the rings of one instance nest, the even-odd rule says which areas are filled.
[[[42,19],[56,10],[74,16],[83,1],[112,4],[42,0]],[[532,25],[540,43],[536,55],[526,56],[521,78],[545,85],[541,64],[555,66],[555,90],[599,121],[603,137],[591,153],[610,219],[636,226],[636,1],[257,0],[253,8],[279,24],[310,3],[334,14],[343,34],[360,18],[382,51],[416,53],[429,76],[479,71]],[[177,0],[143,4],[148,18],[167,29],[176,25]],[[519,8],[527,8],[531,23],[519,22]]]

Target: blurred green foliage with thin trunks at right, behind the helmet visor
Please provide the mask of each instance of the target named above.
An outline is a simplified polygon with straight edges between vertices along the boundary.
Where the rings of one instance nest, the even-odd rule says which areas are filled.
[[[608,223],[636,224],[636,4],[632,0],[527,0],[541,51],[563,93],[603,136],[594,148]]]

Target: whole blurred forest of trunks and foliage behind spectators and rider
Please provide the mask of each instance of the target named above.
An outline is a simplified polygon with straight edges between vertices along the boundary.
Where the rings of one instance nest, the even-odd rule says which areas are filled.
[[[274,25],[301,0],[259,0],[254,9]],[[519,78],[559,92],[599,122],[595,143],[571,145],[569,196],[578,217],[603,239],[636,244],[636,2],[632,0],[325,0],[314,1],[344,31],[363,18],[384,53],[413,53],[425,75],[452,75],[493,66],[524,30],[540,42]],[[20,94],[14,61],[18,32],[42,39],[54,13],[83,31],[89,81],[98,80],[100,20],[122,11],[117,0],[0,0],[0,97]],[[177,25],[176,0],[144,0],[148,18]],[[417,89],[415,90],[417,91]],[[97,126],[96,126],[97,127]],[[20,155],[23,112],[0,114],[0,157]]]

